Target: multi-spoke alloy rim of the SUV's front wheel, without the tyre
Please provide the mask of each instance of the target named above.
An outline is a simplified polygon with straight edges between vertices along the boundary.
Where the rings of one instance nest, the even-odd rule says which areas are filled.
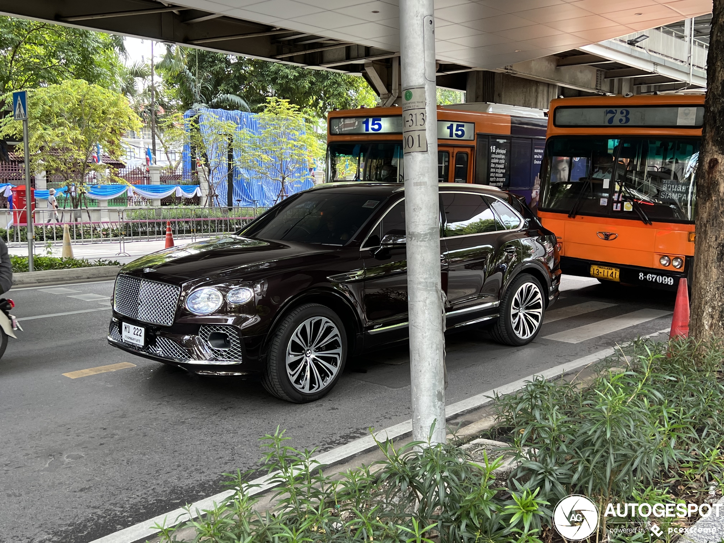
[[[305,394],[319,392],[332,382],[342,363],[342,337],[337,325],[324,316],[306,319],[287,345],[287,376]]]

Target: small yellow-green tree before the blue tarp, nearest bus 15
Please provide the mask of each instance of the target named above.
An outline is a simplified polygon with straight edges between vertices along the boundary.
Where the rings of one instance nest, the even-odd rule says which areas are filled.
[[[308,130],[308,119],[288,100],[267,98],[266,109],[257,116],[258,134],[237,132],[240,159],[237,166],[270,181],[279,182],[276,201],[287,196],[287,182],[323,153],[319,138]],[[307,174],[308,175],[308,174]]]

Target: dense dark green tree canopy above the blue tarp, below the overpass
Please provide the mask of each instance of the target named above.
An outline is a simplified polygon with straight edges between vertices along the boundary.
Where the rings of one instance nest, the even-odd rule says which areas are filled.
[[[373,106],[376,95],[361,77],[324,70],[309,70],[264,60],[212,51],[169,47],[159,71],[184,109],[209,96],[237,96],[251,111],[263,111],[266,98],[275,97],[300,106],[309,116],[325,117],[332,109]],[[230,101],[224,109],[239,109]]]

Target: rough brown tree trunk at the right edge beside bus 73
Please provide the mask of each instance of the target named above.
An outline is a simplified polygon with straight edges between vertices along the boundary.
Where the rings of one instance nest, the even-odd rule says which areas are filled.
[[[724,338],[724,0],[714,0],[702,151],[696,180],[691,335]]]

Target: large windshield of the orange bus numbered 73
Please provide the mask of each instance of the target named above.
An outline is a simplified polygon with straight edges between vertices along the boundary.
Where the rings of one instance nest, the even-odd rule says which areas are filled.
[[[699,144],[697,138],[550,138],[539,208],[693,222]]]

